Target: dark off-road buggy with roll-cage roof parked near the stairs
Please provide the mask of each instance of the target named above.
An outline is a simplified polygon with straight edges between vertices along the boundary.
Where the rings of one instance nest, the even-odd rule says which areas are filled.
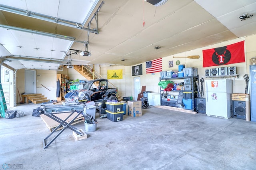
[[[117,89],[108,87],[108,79],[86,81],[82,90],[71,90],[64,96],[68,103],[94,101],[100,103],[103,99],[117,99]]]

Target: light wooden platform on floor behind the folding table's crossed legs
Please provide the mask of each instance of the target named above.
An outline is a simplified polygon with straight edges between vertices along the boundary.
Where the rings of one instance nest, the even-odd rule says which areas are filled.
[[[65,120],[71,113],[59,113],[59,114],[54,114],[54,115],[59,117],[62,120]],[[75,116],[76,116],[76,113],[74,113],[70,118],[68,118],[68,120],[66,122],[69,123]],[[42,118],[42,120],[44,121],[44,123],[46,124],[46,127],[50,130],[50,132],[52,132],[52,130],[54,130],[54,128],[56,128],[58,125],[60,125],[60,123],[54,121],[53,119],[51,119],[50,117],[48,117],[44,114],[41,114],[40,117]],[[73,121],[73,123],[71,123],[71,125],[75,125],[77,123],[83,122],[84,120],[82,118],[83,118],[83,116],[80,114]],[[60,127],[57,130],[60,130],[62,128],[63,127]]]

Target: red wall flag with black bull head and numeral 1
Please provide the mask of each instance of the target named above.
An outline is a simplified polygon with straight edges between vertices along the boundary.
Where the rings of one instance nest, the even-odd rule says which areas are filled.
[[[244,41],[224,47],[203,50],[203,67],[243,63]]]

